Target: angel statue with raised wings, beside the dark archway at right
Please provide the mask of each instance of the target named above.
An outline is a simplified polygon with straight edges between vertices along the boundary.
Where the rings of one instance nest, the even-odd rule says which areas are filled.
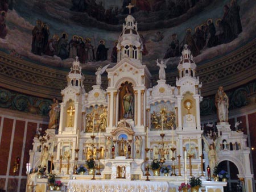
[[[209,159],[209,166],[210,170],[213,173],[213,169],[217,164],[217,153],[220,151],[220,140],[221,137],[218,137],[216,141],[213,141],[213,144],[209,144],[208,140],[203,136],[204,140],[204,151],[208,153],[208,159]]]

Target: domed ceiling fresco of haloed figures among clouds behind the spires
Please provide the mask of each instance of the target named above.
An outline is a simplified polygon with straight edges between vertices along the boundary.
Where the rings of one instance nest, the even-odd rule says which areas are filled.
[[[254,0],[2,0],[0,50],[64,70],[79,56],[85,73],[114,66],[129,3],[151,73],[157,59],[176,69],[185,43],[203,64],[255,38]]]

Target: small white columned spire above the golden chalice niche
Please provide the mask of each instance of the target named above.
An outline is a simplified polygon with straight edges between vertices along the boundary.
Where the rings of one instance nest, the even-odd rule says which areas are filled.
[[[177,66],[179,70],[179,76],[182,77],[196,77],[196,64],[191,55],[191,51],[188,49],[188,45],[184,45],[182,56],[180,56],[180,62]]]

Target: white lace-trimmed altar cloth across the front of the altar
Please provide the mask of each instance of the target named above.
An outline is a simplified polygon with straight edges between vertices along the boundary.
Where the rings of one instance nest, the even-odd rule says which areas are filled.
[[[166,192],[168,182],[120,180],[71,180],[68,192]]]

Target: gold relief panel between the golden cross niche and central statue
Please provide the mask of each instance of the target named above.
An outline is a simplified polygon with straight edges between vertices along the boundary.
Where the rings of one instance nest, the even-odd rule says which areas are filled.
[[[103,105],[86,108],[85,132],[105,132],[108,118],[108,110]]]

